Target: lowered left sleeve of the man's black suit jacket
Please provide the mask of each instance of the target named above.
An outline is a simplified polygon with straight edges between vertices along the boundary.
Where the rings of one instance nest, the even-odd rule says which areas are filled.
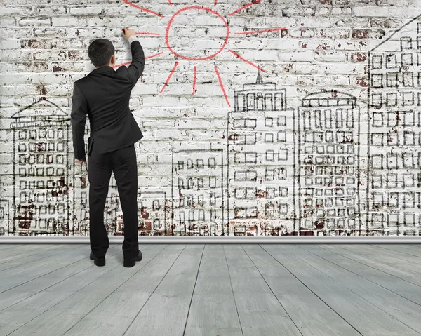
[[[72,114],[70,119],[72,121],[74,158],[78,160],[83,159],[86,155],[84,140],[86,114],[88,114],[88,102],[75,82],[73,86]]]

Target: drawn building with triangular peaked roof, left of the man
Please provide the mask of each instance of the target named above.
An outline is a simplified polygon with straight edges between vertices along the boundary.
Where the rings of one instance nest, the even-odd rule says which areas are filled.
[[[69,234],[69,116],[48,100],[13,114],[13,234]]]

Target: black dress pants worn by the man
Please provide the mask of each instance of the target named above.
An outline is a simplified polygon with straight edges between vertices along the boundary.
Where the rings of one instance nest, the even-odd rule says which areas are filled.
[[[139,253],[138,241],[138,162],[135,145],[114,152],[98,154],[93,144],[88,156],[89,238],[96,257],[105,257],[109,247],[104,225],[104,209],[109,179],[114,172],[123,210],[123,257],[134,259]]]

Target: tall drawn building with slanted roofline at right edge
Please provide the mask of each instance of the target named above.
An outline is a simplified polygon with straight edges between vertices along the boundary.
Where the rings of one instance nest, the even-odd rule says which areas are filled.
[[[418,234],[421,16],[369,53],[367,229]]]

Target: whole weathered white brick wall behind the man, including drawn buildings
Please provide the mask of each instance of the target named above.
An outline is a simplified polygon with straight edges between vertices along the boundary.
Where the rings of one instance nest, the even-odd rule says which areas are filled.
[[[130,62],[121,27],[155,34],[138,35],[148,60],[131,95],[140,234],[421,233],[420,1],[189,6],[2,1],[0,235],[88,234],[72,88],[94,39]],[[113,177],[105,225],[121,235],[118,197]]]

